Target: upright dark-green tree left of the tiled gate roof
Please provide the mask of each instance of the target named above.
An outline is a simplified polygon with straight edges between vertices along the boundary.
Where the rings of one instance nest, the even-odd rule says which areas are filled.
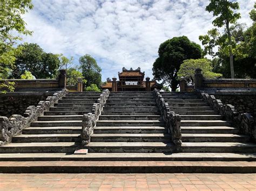
[[[102,82],[102,69],[97,65],[97,62],[91,55],[85,54],[79,58],[79,69],[82,71],[84,79],[86,82],[86,87],[91,86],[91,84],[96,84],[100,88]]]

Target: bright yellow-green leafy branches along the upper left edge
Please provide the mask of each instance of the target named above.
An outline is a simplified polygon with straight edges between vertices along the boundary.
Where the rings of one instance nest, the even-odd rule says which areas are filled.
[[[31,35],[26,30],[26,23],[22,15],[32,9],[31,0],[1,0],[0,11],[0,80],[6,79],[14,68],[15,55],[21,52],[21,48],[15,48],[17,40],[21,40],[19,34]],[[14,31],[16,33],[14,33]],[[14,35],[18,34],[18,35]],[[14,83],[3,81],[0,83],[0,92],[14,91]]]

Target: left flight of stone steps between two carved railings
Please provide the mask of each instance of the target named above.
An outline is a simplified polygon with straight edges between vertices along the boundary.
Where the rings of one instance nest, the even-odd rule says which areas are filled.
[[[30,124],[0,153],[73,153],[80,144],[82,116],[92,111],[100,93],[69,93]],[[1,154],[0,154],[1,160]]]

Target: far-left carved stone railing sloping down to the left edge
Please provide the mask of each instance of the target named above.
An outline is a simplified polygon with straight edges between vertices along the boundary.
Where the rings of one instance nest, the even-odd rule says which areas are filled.
[[[45,101],[40,101],[37,106],[29,106],[24,116],[12,115],[10,118],[0,117],[0,145],[11,143],[13,136],[21,132],[38,116],[43,115],[45,110],[49,110],[65,94],[66,90],[63,89],[62,91],[57,91],[52,96],[48,96]]]

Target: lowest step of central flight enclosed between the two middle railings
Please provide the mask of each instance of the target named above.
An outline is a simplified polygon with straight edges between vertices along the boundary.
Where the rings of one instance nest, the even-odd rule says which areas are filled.
[[[93,134],[91,142],[170,142],[171,136],[164,133],[106,133]]]

